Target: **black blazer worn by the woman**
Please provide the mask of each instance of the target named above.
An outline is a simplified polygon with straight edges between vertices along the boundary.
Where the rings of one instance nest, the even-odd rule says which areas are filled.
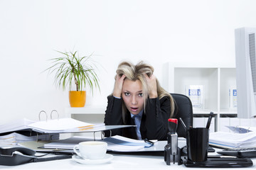
[[[135,125],[129,111],[125,117],[125,123],[122,118],[122,98],[107,97],[107,110],[105,111],[105,125]],[[167,140],[168,118],[171,114],[171,101],[168,96],[159,98],[148,98],[146,108],[142,115],[140,132],[142,139],[148,140]],[[110,132],[105,131],[109,136]],[[112,135],[122,135],[132,139],[137,139],[135,128],[122,128],[112,130]]]

